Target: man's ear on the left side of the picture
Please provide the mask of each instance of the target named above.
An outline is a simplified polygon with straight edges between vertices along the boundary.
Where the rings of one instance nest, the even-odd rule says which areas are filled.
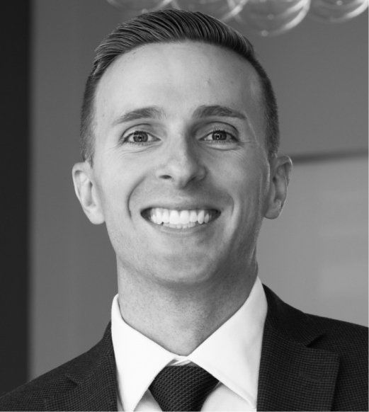
[[[86,216],[93,224],[105,222],[103,210],[96,184],[93,183],[93,173],[87,161],[77,163],[72,169],[74,190]]]

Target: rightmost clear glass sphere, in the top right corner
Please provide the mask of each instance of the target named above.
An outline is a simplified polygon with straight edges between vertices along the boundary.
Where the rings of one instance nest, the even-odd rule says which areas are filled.
[[[323,23],[341,23],[368,8],[368,0],[312,0],[310,16]]]

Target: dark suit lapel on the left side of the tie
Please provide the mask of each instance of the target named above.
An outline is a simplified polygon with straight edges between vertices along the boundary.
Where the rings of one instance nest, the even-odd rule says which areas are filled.
[[[110,324],[103,339],[66,374],[74,389],[45,399],[46,411],[117,411],[115,358]]]

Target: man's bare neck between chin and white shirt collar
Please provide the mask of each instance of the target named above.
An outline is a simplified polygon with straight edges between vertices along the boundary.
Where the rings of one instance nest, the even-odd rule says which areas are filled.
[[[246,269],[246,270],[245,270]],[[118,265],[120,312],[127,324],[176,355],[189,355],[246,301],[257,275],[253,258],[227,282],[163,285],[130,276]]]

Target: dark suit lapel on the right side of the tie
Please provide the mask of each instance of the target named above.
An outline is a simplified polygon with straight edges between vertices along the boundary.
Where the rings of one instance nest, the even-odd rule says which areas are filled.
[[[312,348],[314,321],[264,286],[268,314],[259,370],[258,411],[330,411],[339,355]]]

